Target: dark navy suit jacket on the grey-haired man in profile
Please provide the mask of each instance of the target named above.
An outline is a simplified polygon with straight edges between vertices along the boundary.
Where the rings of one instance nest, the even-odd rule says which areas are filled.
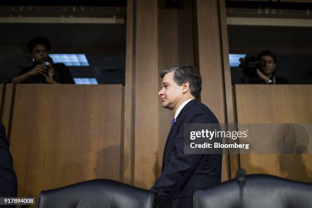
[[[184,154],[185,123],[219,123],[202,103],[191,100],[172,125],[163,155],[163,171],[151,188],[160,207],[193,207],[193,191],[221,182],[222,154]]]

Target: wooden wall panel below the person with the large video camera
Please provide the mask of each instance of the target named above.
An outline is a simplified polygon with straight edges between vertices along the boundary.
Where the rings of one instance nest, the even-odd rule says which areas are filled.
[[[238,123],[311,123],[311,85],[236,85]],[[248,174],[267,173],[312,182],[310,154],[244,154]]]

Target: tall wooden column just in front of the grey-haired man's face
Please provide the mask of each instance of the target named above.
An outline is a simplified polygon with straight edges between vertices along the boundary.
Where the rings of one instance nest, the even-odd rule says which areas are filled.
[[[132,37],[127,35],[125,86],[125,150],[131,151],[131,184],[150,188],[158,169],[158,4],[128,1]],[[130,93],[130,94],[129,94]],[[126,181],[125,180],[125,181]]]

